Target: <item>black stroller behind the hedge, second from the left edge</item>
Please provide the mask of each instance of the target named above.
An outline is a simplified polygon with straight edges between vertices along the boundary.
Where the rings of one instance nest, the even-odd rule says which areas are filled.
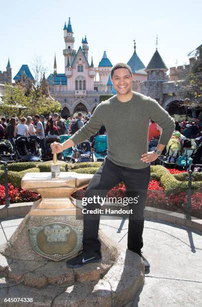
[[[40,139],[36,135],[19,136],[16,140],[18,158],[21,161],[40,161],[42,154],[39,144]]]

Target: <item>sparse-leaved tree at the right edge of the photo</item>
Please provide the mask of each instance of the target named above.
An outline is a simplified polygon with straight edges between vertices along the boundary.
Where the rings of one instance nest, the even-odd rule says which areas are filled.
[[[196,61],[191,72],[180,82],[177,97],[182,105],[194,109],[202,109],[202,45],[188,54],[195,55]]]

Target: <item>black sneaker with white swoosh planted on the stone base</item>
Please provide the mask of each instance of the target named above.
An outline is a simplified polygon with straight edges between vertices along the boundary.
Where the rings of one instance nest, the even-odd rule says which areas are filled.
[[[76,257],[67,260],[66,263],[68,267],[77,268],[87,263],[101,262],[101,260],[102,260],[102,255],[99,251],[84,252],[83,250],[81,250]]]

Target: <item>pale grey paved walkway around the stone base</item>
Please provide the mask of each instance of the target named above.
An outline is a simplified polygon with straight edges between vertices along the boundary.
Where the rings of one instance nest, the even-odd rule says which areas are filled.
[[[0,244],[9,240],[22,220],[23,217],[0,220]],[[103,219],[100,229],[127,246],[127,220]],[[201,236],[194,230],[146,219],[142,251],[150,262],[150,272],[145,275],[139,295],[127,307],[202,306]]]

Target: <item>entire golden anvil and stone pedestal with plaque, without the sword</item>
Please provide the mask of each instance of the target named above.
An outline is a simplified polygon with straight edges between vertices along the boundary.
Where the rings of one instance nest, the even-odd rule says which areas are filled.
[[[0,246],[1,306],[14,305],[5,303],[4,297],[33,297],[30,306],[122,306],[133,300],[144,282],[144,263],[136,253],[120,249],[110,233],[107,237],[99,231],[102,262],[76,269],[66,265],[66,259],[82,247],[83,227],[78,219],[81,209],[76,211],[69,195],[86,186],[91,177],[71,172],[56,179],[50,173],[30,173],[23,178],[22,188],[40,193],[42,199]],[[74,228],[80,230],[78,236]],[[38,229],[42,229],[40,237],[35,237],[39,249],[30,236],[31,230]]]

